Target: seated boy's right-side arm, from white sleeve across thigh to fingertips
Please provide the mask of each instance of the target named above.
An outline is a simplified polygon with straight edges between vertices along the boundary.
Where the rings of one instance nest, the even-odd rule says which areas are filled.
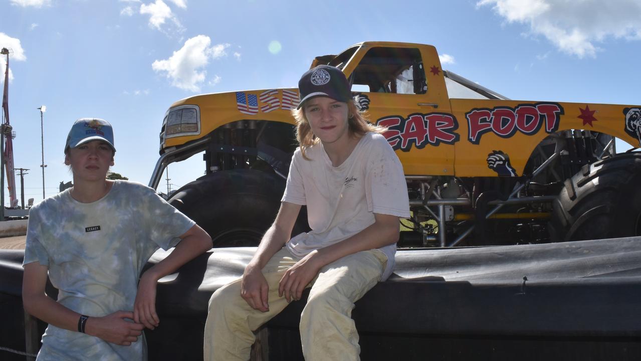
[[[290,267],[280,281],[278,294],[287,301],[300,299],[303,290],[319,273],[324,265],[339,258],[368,249],[381,248],[399,239],[399,217],[388,214],[374,214],[374,223],[348,239],[326,248],[308,253]]]

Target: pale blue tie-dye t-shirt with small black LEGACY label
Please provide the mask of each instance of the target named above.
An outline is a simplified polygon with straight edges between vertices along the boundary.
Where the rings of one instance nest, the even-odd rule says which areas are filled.
[[[58,302],[90,317],[133,311],[142,267],[180,241],[194,221],[140,183],[115,181],[98,201],[79,203],[69,189],[29,212],[24,264],[49,267]],[[146,360],[144,337],[117,346],[52,325],[38,360]]]

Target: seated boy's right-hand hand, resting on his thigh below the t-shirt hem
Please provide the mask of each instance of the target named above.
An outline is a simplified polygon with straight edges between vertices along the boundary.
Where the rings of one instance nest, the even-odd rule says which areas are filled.
[[[291,302],[292,299],[298,301],[303,297],[303,290],[312,282],[322,267],[319,262],[316,262],[317,253],[318,251],[308,253],[285,271],[285,275],[278,285],[278,296],[283,297],[284,295],[287,302]]]

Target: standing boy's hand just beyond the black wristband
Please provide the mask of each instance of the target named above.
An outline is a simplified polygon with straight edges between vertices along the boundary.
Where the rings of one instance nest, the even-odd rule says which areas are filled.
[[[104,317],[89,317],[85,332],[112,344],[131,346],[131,342],[138,340],[145,326],[125,319],[133,319],[133,312],[118,311]]]

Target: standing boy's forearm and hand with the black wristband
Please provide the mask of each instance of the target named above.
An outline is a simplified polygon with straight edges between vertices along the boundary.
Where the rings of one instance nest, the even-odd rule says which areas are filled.
[[[78,331],[80,314],[60,305],[45,294],[47,270],[46,265],[38,262],[24,265],[22,278],[24,310],[53,326]],[[133,319],[132,312],[118,311],[104,317],[88,316],[90,317],[85,324],[85,333],[121,346],[129,346],[131,342],[135,342],[144,328],[142,324],[125,321],[125,319]]]

